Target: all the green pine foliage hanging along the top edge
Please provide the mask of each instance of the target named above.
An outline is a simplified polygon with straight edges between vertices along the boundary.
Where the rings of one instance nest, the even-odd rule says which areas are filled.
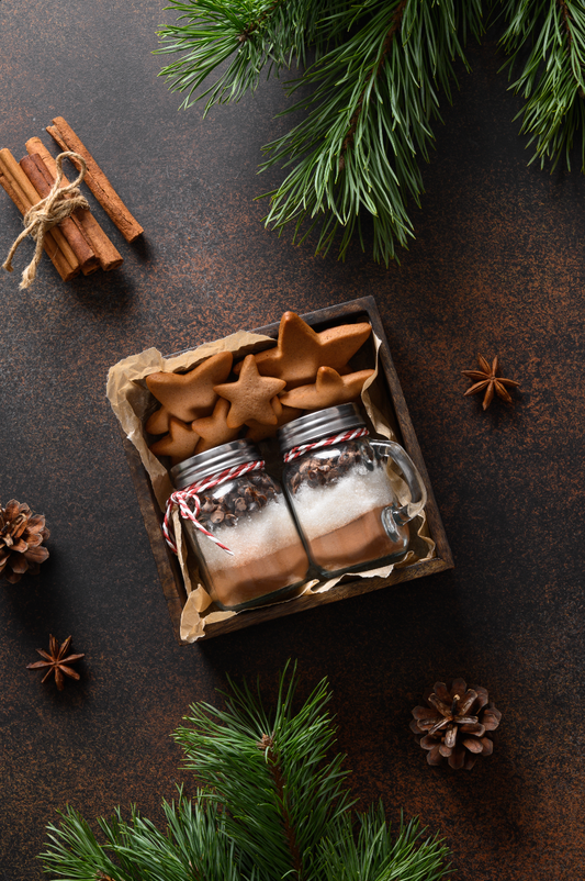
[[[183,107],[206,98],[206,112],[254,91],[265,69],[302,69],[281,114],[302,121],[265,147],[260,166],[289,169],[265,193],[267,225],[280,233],[292,224],[299,243],[315,231],[316,253],[337,242],[345,257],[355,238],[364,247],[368,220],[374,259],[397,259],[414,236],[409,210],[424,192],[420,161],[429,158],[439,97],[451,100],[453,65],[466,66],[466,40],[481,36],[482,0],[170,2],[178,23],[161,27],[157,52],[179,56],[160,73],[172,90],[187,91]],[[529,56],[511,88],[526,98],[521,132],[536,141],[533,158],[571,167],[578,142],[585,171],[582,0],[487,0],[487,11],[498,9],[510,65]],[[307,93],[297,98],[301,87]]]

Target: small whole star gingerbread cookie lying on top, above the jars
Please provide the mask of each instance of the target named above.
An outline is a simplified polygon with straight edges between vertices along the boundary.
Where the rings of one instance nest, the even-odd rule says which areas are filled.
[[[281,404],[278,398],[274,402],[273,399],[285,384],[283,379],[260,376],[254,355],[247,355],[237,382],[214,386],[214,391],[232,404],[226,419],[229,428],[239,428],[248,420],[275,425]]]

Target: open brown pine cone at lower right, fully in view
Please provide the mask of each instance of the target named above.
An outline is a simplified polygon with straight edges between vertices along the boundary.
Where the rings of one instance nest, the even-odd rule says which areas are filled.
[[[487,702],[484,688],[468,689],[463,679],[453,679],[448,685],[436,682],[425,700],[430,709],[415,706],[410,728],[423,749],[428,749],[429,765],[440,765],[446,758],[451,768],[471,771],[480,756],[492,755],[492,732],[502,713]]]

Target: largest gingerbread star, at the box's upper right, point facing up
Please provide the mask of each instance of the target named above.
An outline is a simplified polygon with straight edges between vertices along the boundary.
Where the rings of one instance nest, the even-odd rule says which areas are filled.
[[[275,347],[255,355],[258,371],[285,380],[289,389],[305,386],[315,381],[319,367],[344,370],[371,331],[368,322],[360,322],[317,333],[295,312],[285,312]],[[236,373],[239,369],[239,365],[234,367]]]

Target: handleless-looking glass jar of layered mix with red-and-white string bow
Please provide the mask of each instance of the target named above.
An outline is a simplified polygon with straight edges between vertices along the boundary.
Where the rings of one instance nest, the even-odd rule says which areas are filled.
[[[300,593],[308,560],[280,484],[265,470],[258,448],[233,440],[176,465],[170,471],[189,545],[210,596],[221,609],[244,610]],[[173,548],[176,549],[176,547]]]

